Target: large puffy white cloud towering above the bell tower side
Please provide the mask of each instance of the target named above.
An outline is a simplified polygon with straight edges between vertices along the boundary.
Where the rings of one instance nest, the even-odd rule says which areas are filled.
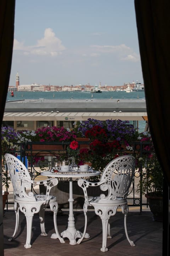
[[[13,50],[23,50],[24,55],[51,55],[57,56],[62,54],[66,48],[62,45],[62,41],[55,36],[51,28],[46,28],[44,37],[37,41],[35,46],[24,46],[23,42],[14,39]]]

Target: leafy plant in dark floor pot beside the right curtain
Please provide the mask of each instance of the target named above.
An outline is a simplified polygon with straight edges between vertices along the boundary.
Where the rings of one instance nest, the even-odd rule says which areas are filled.
[[[142,171],[142,178],[137,186],[137,191],[145,194],[154,220],[162,221],[163,171],[155,154],[151,136],[145,136],[141,141],[146,144],[143,146],[142,157],[138,158],[138,167]]]

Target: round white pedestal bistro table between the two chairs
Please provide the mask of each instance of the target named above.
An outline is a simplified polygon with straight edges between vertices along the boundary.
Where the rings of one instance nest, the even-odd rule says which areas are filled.
[[[100,175],[100,171],[95,171],[95,170],[89,170],[89,171],[68,171],[68,172],[51,172],[51,171],[45,171],[41,172],[41,175],[47,176],[47,177],[56,177],[56,178],[69,178],[69,217],[68,217],[68,226],[67,229],[64,230],[61,233],[61,236],[63,238],[67,237],[70,240],[70,245],[76,245],[76,239],[81,238],[82,233],[79,230],[76,230],[75,228],[75,222],[74,222],[74,214],[73,214],[73,178],[81,178],[81,177],[92,177],[92,176],[97,176]],[[89,238],[89,234],[85,234],[85,238]],[[52,234],[51,238],[56,239],[58,238],[56,234]]]

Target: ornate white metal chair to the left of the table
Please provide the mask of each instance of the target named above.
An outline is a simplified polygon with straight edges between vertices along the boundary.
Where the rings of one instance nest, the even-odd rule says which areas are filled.
[[[26,220],[27,220],[27,240],[26,244],[24,245],[25,248],[30,248],[30,241],[31,241],[31,233],[32,233],[32,222],[33,222],[33,216],[34,213],[39,212],[39,218],[40,218],[40,228],[41,228],[41,235],[47,236],[45,232],[45,226],[44,226],[44,215],[45,215],[45,209],[47,205],[50,206],[51,211],[53,212],[53,221],[54,221],[54,227],[56,234],[55,237],[51,238],[58,238],[61,243],[64,243],[65,241],[58,233],[57,229],[57,210],[58,210],[58,203],[55,196],[51,196],[50,190],[53,186],[56,186],[58,183],[57,178],[51,178],[49,180],[44,181],[33,181],[29,175],[29,172],[26,168],[26,166],[15,156],[11,154],[5,154],[5,160],[7,164],[7,168],[10,174],[10,178],[12,181],[13,186],[13,193],[14,193],[14,210],[16,214],[16,225],[15,225],[15,231],[13,235],[11,236],[9,241],[11,241],[18,230],[18,224],[19,224],[19,209],[21,212],[24,213]],[[44,184],[46,186],[46,194],[33,194],[33,192],[27,192],[27,190],[30,190],[31,186],[33,185],[41,185]]]

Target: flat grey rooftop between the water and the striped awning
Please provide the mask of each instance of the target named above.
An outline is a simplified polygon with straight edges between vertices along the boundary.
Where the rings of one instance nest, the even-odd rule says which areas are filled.
[[[86,100],[38,100],[7,101],[5,112],[146,112],[145,99],[86,99]]]

